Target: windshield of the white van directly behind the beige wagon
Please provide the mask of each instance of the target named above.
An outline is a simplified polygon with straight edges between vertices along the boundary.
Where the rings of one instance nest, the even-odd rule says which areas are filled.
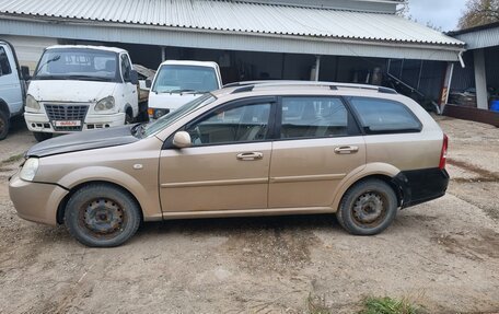
[[[152,92],[155,93],[206,93],[219,89],[216,69],[200,66],[161,66]]]

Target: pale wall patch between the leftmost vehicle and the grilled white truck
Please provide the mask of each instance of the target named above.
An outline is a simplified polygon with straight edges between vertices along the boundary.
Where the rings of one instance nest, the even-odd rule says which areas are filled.
[[[30,67],[33,74],[39,57],[48,46],[57,45],[56,38],[32,37],[32,36],[11,36],[1,35],[0,38],[11,43],[14,46],[21,66]]]

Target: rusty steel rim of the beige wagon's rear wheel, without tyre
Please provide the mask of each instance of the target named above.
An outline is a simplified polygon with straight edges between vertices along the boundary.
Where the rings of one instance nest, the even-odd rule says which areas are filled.
[[[379,191],[369,190],[356,198],[351,207],[351,214],[356,224],[374,228],[380,225],[387,213],[386,196]]]

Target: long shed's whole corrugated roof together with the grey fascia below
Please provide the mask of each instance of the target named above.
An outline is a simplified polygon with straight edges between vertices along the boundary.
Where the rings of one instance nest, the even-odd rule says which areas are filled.
[[[395,14],[216,0],[189,1],[188,8],[181,0],[136,0],[136,5],[163,7],[129,10],[120,0],[89,1],[101,7],[89,11],[68,8],[61,0],[46,0],[44,3],[54,4],[45,5],[49,11],[34,0],[37,5],[23,8],[0,0],[0,32],[159,46],[443,61],[459,60],[464,50],[464,43]]]

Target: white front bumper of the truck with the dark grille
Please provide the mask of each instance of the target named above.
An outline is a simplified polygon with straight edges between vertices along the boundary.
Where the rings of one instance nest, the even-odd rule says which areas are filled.
[[[80,130],[103,129],[123,126],[125,124],[125,113],[117,113],[111,115],[86,115],[81,129],[74,130],[71,128],[61,129],[55,128],[46,114],[24,113],[24,120],[26,121],[27,129],[33,132],[47,132],[47,133],[69,133]]]

